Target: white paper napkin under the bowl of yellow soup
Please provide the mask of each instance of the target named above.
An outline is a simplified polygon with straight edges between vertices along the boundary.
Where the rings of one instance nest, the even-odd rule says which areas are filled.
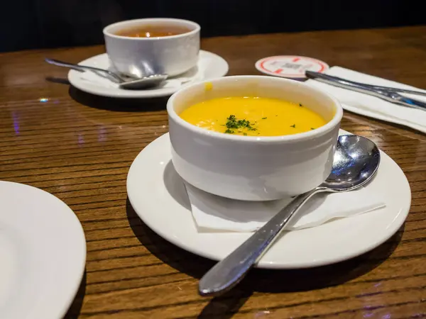
[[[236,201],[208,194],[187,183],[185,186],[192,216],[200,232],[253,232],[292,200]],[[368,189],[365,188],[341,194],[317,194],[300,208],[300,212],[290,220],[285,229],[312,228],[337,218],[360,215],[384,206],[383,198],[368,196]]]

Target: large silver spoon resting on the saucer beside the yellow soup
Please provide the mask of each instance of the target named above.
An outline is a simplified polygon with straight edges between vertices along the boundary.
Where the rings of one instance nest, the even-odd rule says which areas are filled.
[[[241,281],[278,238],[281,230],[314,194],[352,191],[366,184],[378,169],[380,152],[368,138],[342,135],[334,152],[332,173],[315,189],[296,196],[241,246],[204,274],[198,286],[201,296],[217,296]]]

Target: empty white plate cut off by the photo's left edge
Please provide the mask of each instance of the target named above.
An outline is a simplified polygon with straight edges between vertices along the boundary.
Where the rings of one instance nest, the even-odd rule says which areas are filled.
[[[60,319],[80,286],[86,241],[55,196],[0,181],[0,318]]]

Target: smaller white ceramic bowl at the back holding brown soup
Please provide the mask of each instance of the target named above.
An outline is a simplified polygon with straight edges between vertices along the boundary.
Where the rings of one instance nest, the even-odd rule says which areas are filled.
[[[116,35],[137,26],[180,26],[188,33],[156,38]],[[113,23],[104,28],[105,46],[112,65],[119,72],[143,77],[187,72],[197,65],[200,51],[200,26],[192,21],[173,18],[146,18]]]

